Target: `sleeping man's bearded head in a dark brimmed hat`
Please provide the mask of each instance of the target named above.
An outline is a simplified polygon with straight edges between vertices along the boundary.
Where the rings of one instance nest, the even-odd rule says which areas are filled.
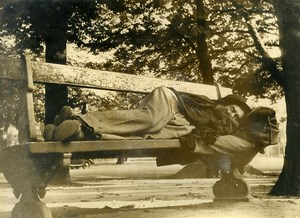
[[[235,94],[227,95],[219,99],[216,109],[221,110],[236,121],[240,121],[246,114],[251,112],[251,108],[247,105],[246,99]]]

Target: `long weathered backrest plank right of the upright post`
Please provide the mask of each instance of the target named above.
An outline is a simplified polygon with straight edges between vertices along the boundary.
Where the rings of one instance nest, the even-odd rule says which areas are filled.
[[[178,91],[206,95],[211,99],[218,98],[216,87],[212,85],[163,80],[132,74],[34,61],[31,62],[31,66],[34,81],[38,83],[56,83],[87,88],[141,93],[149,93],[156,87],[166,86],[175,88]],[[222,87],[221,93],[222,96],[225,96],[231,94],[232,90]]]

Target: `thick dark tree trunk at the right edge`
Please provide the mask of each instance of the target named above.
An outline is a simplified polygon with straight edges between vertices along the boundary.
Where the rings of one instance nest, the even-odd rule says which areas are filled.
[[[271,195],[300,196],[300,3],[274,1],[287,107],[287,144],[284,166]]]

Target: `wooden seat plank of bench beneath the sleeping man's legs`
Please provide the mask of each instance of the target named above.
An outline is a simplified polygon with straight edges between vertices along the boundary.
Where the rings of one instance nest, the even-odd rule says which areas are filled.
[[[30,142],[26,146],[33,154],[181,148],[179,139]]]

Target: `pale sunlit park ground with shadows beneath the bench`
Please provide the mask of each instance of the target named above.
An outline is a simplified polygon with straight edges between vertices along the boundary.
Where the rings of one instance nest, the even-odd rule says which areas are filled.
[[[182,166],[156,167],[153,159],[115,162],[71,170],[72,185],[49,186],[43,202],[53,217],[300,217],[300,198],[268,196],[277,174],[245,176],[250,202],[213,202],[217,179],[166,179]],[[2,174],[0,189],[0,217],[8,218],[17,200]]]

